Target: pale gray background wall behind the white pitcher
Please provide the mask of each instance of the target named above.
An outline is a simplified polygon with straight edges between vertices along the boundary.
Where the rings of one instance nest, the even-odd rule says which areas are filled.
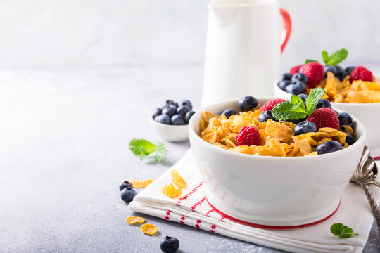
[[[206,0],[0,1],[0,67],[202,65]],[[283,67],[323,49],[378,61],[380,1],[279,0],[293,19]]]

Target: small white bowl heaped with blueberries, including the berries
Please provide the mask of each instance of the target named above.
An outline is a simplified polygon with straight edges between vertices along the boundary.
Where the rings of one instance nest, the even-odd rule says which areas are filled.
[[[156,108],[149,122],[166,141],[186,141],[189,140],[189,120],[194,113],[189,100],[182,100],[181,103],[167,100],[162,108]]]

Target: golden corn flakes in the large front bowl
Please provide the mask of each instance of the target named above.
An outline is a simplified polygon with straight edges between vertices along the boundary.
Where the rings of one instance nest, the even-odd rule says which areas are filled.
[[[240,112],[227,119],[225,115],[214,115],[205,111],[202,113],[200,136],[208,143],[238,153],[297,157],[317,155],[315,148],[326,141],[338,141],[346,148],[349,146],[346,143],[347,134],[340,130],[353,133],[350,126],[341,126],[340,130],[324,127],[317,132],[295,136],[293,129],[296,124],[275,122],[271,119],[261,123],[258,119],[261,112],[260,109]],[[254,126],[258,129],[260,145],[236,145],[236,136],[243,126]]]

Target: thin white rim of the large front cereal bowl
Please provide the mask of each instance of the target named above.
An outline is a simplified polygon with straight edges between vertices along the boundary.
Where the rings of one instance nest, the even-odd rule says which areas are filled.
[[[256,97],[258,100],[270,100],[270,99],[274,99],[274,97]],[[191,138],[193,138],[195,141],[201,141],[201,143],[205,144],[206,146],[210,147],[211,149],[215,149],[216,152],[220,152],[221,154],[224,154],[224,155],[232,155],[232,156],[236,156],[236,157],[253,157],[252,159],[261,159],[261,160],[312,160],[312,159],[323,159],[323,158],[328,158],[328,157],[334,157],[334,156],[339,156],[345,152],[347,152],[347,150],[351,150],[352,148],[357,148],[357,146],[361,145],[363,143],[365,143],[365,137],[366,137],[366,130],[365,130],[365,126],[362,124],[362,122],[360,122],[356,117],[354,117],[353,115],[351,115],[351,117],[353,117],[354,119],[354,122],[356,123],[356,127],[359,127],[359,129],[362,129],[362,134],[359,136],[359,138],[357,138],[357,140],[355,141],[355,143],[353,143],[353,145],[350,145],[349,147],[347,148],[343,148],[342,150],[338,150],[338,151],[334,151],[334,152],[331,152],[331,153],[327,153],[327,154],[323,154],[323,155],[309,155],[309,156],[300,156],[300,157],[276,157],[276,156],[269,156],[269,155],[250,155],[250,154],[244,154],[244,153],[238,153],[238,152],[233,152],[231,150],[225,150],[224,148],[219,148],[211,143],[208,143],[207,141],[203,140],[201,138],[201,136],[198,136],[198,134],[196,134],[196,131],[194,129],[194,124],[195,124],[195,120],[197,117],[200,117],[201,116],[201,113],[205,110],[208,110],[210,111],[213,110],[213,108],[218,108],[224,104],[227,104],[227,103],[236,103],[237,105],[237,102],[239,101],[240,98],[234,98],[234,99],[229,99],[229,100],[224,100],[220,103],[214,103],[212,105],[208,105],[208,106],[205,106],[204,108],[201,108],[200,110],[198,110],[190,119],[189,121],[189,138],[190,138],[190,144],[191,144]],[[338,112],[346,112],[344,110],[341,110],[339,108],[333,108],[335,111],[338,111]],[[191,147],[192,148],[192,147]],[[319,158],[315,158],[315,157],[319,157]],[[321,158],[322,157],[322,158]]]

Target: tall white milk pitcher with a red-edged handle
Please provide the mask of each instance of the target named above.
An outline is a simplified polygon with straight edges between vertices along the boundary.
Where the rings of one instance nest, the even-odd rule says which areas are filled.
[[[208,8],[202,105],[272,96],[291,33],[289,13],[277,0],[211,0]]]

